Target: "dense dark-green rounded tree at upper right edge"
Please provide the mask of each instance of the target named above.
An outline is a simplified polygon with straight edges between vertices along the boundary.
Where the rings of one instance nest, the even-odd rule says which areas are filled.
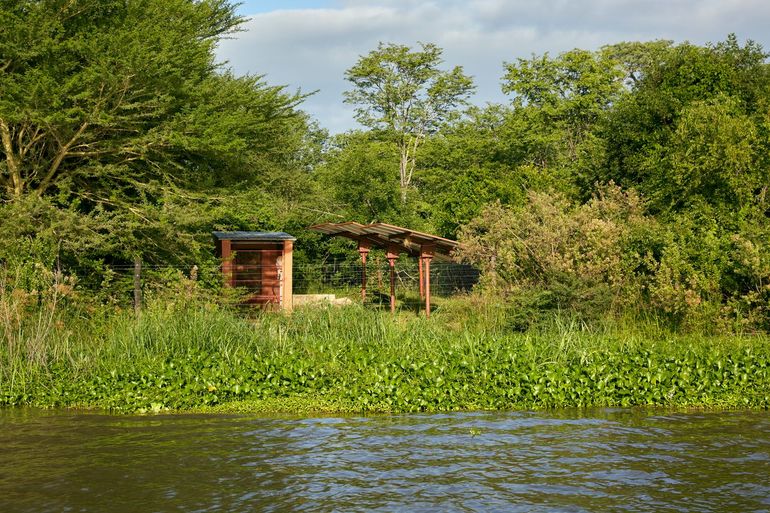
[[[767,53],[733,35],[646,52],[630,94],[598,127],[605,157],[594,179],[637,188],[656,213],[716,208],[726,220],[751,206],[767,215]]]

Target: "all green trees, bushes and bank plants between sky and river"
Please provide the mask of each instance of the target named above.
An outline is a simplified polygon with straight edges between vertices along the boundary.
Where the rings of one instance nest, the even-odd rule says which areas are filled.
[[[440,48],[381,44],[345,75],[366,130],[330,136],[215,61],[234,12],[0,2],[2,404],[767,407],[761,47],[512,49],[481,108]],[[357,257],[307,230],[342,219],[457,237],[481,283],[430,322],[223,306],[212,230],[288,231],[299,266]]]

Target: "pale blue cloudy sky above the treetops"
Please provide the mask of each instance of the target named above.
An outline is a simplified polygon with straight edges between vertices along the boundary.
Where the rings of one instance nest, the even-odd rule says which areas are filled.
[[[359,128],[345,70],[379,42],[444,49],[474,77],[472,102],[505,103],[503,63],[620,41],[718,42],[734,32],[770,50],[770,0],[247,0],[243,30],[217,56],[236,74],[313,92],[302,105],[331,133]]]

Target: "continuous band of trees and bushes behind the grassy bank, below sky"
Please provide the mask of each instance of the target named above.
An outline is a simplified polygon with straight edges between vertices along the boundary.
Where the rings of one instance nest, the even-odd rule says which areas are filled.
[[[213,262],[212,230],[383,221],[466,243],[512,325],[554,312],[770,330],[770,67],[735,36],[503,64],[470,106],[441,49],[381,44],[346,74],[365,129],[233,76],[227,0],[0,3],[0,262],[97,289],[110,265]],[[511,50],[512,58],[515,49]],[[38,267],[36,267],[38,266]],[[89,281],[91,280],[91,281]],[[4,289],[5,290],[5,289]]]

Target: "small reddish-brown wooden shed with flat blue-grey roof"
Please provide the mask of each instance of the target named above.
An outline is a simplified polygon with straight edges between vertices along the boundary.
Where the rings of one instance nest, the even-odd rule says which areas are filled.
[[[247,289],[246,303],[292,309],[296,238],[284,232],[214,232],[214,238],[225,283]]]

